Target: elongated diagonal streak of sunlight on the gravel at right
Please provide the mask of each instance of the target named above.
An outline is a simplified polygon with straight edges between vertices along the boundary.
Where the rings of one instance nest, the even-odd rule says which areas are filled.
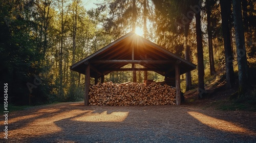
[[[220,119],[217,119],[214,117],[210,117],[210,116],[207,116],[207,115],[199,113],[199,112],[190,111],[187,113],[190,114],[191,116],[195,117],[201,123],[203,123],[211,128],[215,128],[215,129],[225,131],[225,132],[238,133],[238,134],[255,134],[253,131],[239,127],[238,125],[233,124],[231,122],[227,122],[227,121],[220,120]]]

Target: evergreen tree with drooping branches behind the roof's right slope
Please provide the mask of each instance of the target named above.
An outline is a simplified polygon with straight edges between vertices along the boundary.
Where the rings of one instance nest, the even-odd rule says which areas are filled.
[[[189,26],[191,20],[194,18],[194,12],[190,9],[190,6],[193,5],[192,1],[153,1],[158,13],[157,25],[159,33],[159,39],[163,39],[162,42],[166,42],[165,47],[167,45],[178,44],[172,40],[171,37],[181,36],[182,33],[184,34],[184,42],[183,46],[177,47],[184,47],[185,49],[185,59],[190,61],[190,45],[188,43],[188,35],[189,35]],[[169,9],[172,7],[173,9]],[[165,22],[162,22],[165,21]],[[165,32],[171,32],[173,34],[165,34]],[[168,37],[166,35],[171,35]],[[175,38],[174,38],[175,39]],[[169,43],[168,40],[170,40]],[[183,41],[183,39],[179,39],[179,41]],[[165,45],[165,44],[164,44]],[[163,46],[164,46],[163,45]],[[175,46],[175,45],[172,45]],[[176,51],[180,51],[179,49],[175,49]],[[186,73],[186,91],[190,90],[191,88],[191,73]]]

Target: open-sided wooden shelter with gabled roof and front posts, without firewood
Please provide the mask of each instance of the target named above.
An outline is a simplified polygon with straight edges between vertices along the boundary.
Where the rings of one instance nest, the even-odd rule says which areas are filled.
[[[140,64],[145,68],[121,68],[127,64]],[[180,91],[180,75],[196,69],[196,65],[130,32],[70,68],[86,75],[84,105],[89,105],[90,77],[96,83],[101,78],[103,83],[104,75],[112,71],[155,71],[165,76],[165,79],[175,78],[176,91]],[[176,92],[176,104],[180,103],[181,93]]]

